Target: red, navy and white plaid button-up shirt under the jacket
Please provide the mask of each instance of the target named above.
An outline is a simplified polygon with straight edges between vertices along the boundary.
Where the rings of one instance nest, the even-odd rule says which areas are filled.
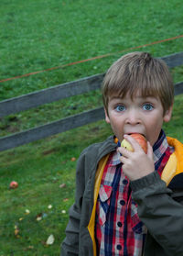
[[[173,149],[163,130],[153,147],[155,169],[161,175]],[[145,225],[137,215],[128,178],[119,153],[111,153],[103,170],[96,206],[95,236],[99,256],[141,256],[145,244]]]

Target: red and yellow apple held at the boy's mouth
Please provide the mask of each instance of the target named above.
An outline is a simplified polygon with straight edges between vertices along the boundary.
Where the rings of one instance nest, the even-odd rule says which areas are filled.
[[[145,136],[143,136],[140,133],[133,133],[133,134],[130,134],[130,136],[133,137],[138,142],[138,144],[141,146],[141,148],[145,151],[145,154],[146,154],[146,152],[147,152],[147,144],[146,144]],[[126,150],[134,151],[132,145],[126,139],[122,140],[122,144],[121,145]]]

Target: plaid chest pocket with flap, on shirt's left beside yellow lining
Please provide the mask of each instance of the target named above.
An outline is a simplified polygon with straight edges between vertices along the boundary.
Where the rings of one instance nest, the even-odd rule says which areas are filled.
[[[99,215],[98,221],[100,225],[104,225],[106,222],[107,213],[109,211],[111,195],[113,187],[109,185],[101,185],[99,190]]]

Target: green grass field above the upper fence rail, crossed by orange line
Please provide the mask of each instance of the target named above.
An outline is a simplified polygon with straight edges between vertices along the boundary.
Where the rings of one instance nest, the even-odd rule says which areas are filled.
[[[182,11],[180,0],[2,0],[1,79],[181,35]],[[140,50],[164,56],[182,39]],[[1,83],[0,99],[104,72],[120,55]]]

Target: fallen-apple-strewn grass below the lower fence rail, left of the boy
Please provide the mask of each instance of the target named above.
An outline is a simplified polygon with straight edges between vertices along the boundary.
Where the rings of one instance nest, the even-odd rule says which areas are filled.
[[[102,140],[109,134],[105,125],[98,123],[98,126],[75,129],[74,134],[66,132],[0,154],[1,254],[13,251],[13,255],[59,255],[74,197],[76,161],[73,160],[78,159],[88,144],[97,141],[98,135]],[[16,190],[8,189],[12,180],[19,184]],[[60,184],[66,186],[60,188]],[[40,221],[38,216],[42,217]],[[18,236],[15,226],[19,229]],[[45,242],[50,234],[55,242],[48,247]]]

